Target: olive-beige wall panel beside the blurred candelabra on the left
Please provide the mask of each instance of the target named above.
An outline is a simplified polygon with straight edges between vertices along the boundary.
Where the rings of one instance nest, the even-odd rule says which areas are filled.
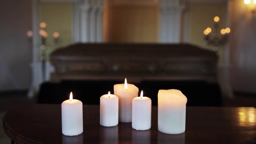
[[[72,43],[73,3],[40,3],[40,22],[46,22],[47,60],[56,48]],[[59,32],[59,43],[53,43],[53,33]]]

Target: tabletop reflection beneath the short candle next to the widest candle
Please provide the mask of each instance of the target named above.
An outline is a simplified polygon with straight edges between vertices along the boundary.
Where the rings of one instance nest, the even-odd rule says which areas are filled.
[[[132,129],[131,141],[132,144],[151,144],[151,130],[137,131]]]

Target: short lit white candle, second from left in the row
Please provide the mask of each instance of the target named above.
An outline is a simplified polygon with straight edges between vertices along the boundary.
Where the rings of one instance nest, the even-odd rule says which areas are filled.
[[[116,95],[102,95],[100,97],[100,125],[113,127],[118,125],[118,97]]]

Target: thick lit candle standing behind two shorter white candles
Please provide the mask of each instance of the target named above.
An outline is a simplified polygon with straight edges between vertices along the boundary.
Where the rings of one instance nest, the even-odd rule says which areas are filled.
[[[119,99],[119,121],[120,122],[131,122],[131,111],[132,111],[132,99],[138,97],[139,89],[132,84],[114,85],[114,95],[118,96]]]

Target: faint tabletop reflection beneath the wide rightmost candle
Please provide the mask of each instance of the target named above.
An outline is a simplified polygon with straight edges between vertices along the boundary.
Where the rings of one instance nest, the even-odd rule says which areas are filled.
[[[164,134],[158,131],[158,144],[185,144],[185,132],[182,134]]]

